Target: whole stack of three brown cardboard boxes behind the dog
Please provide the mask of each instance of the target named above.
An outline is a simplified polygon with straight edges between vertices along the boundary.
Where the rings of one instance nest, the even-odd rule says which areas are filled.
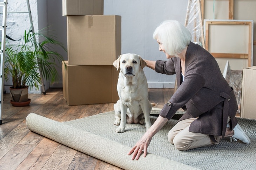
[[[68,61],[62,63],[68,105],[115,103],[121,54],[121,16],[103,15],[103,0],[62,0]],[[66,65],[65,65],[66,64]]]

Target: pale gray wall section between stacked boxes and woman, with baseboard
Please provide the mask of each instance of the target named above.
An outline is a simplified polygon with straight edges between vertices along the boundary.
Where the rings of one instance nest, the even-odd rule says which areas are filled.
[[[122,16],[122,53],[147,60],[166,60],[152,35],[164,20],[185,23],[188,0],[105,0],[105,15]],[[149,88],[173,88],[175,77],[144,68]]]

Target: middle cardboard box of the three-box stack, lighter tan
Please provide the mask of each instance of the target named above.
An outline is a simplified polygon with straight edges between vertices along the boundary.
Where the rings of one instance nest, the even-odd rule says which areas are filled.
[[[112,65],[121,54],[121,16],[67,16],[69,65]]]

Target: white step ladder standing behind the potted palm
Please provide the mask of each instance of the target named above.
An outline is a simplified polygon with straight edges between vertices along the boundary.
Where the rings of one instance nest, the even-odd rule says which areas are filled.
[[[27,0],[27,6],[28,6],[28,14],[29,19],[31,23],[31,31],[34,34],[34,25],[31,15],[31,9],[29,5],[29,0]],[[0,31],[2,31],[2,39],[1,39],[1,50],[0,50],[0,125],[2,124],[2,111],[3,111],[3,95],[4,95],[4,68],[5,68],[5,39],[6,39],[6,15],[7,15],[7,0],[3,0],[3,2],[0,2],[0,7],[3,8],[3,18],[2,18],[2,26],[0,25]],[[19,13],[19,12],[17,12]],[[35,40],[35,37],[34,37]],[[46,94],[45,92],[45,86],[43,84],[43,78],[41,74],[41,70],[39,70],[40,76],[41,76],[41,84],[42,84],[42,92],[43,94]]]

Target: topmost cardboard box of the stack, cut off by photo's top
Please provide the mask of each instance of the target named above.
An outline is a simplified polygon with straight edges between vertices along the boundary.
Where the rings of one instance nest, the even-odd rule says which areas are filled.
[[[104,0],[62,0],[62,16],[103,15]]]

